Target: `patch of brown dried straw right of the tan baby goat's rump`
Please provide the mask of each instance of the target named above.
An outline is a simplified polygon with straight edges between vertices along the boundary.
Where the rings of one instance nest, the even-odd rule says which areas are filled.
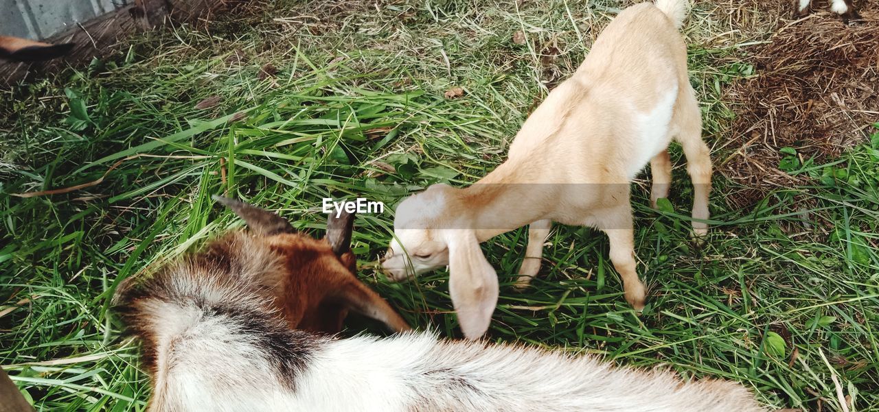
[[[802,182],[779,170],[783,147],[820,162],[868,139],[879,120],[879,2],[864,3],[852,25],[818,12],[781,21],[770,43],[749,50],[756,76],[724,99],[737,115],[730,129],[737,150],[717,166],[750,188],[730,196],[734,205]]]

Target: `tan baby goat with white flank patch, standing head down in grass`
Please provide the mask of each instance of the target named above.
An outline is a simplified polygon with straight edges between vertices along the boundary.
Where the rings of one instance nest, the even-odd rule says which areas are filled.
[[[708,231],[711,160],[678,32],[686,9],[686,0],[657,0],[622,11],[577,72],[528,117],[503,164],[469,188],[436,184],[400,203],[385,271],[399,281],[448,265],[461,330],[476,338],[498,301],[498,278],[480,242],[530,224],[519,270],[525,287],[541,266],[551,222],[586,225],[607,233],[626,300],[643,309],[629,184],[650,162],[653,205],[668,195],[672,139],[694,184],[694,232]]]

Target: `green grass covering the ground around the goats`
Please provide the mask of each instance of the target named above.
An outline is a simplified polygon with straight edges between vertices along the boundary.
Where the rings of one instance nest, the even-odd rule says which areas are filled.
[[[476,181],[503,160],[544,81],[570,74],[621,4],[249,7],[3,92],[0,364],[38,409],[144,408],[137,347],[109,301],[120,280],[241,224],[211,194],[320,234],[325,196],[393,205],[437,181]],[[729,16],[699,3],[686,29],[716,161],[731,154],[735,108],[723,91],[748,75],[746,45],[765,38]],[[525,45],[512,42],[519,30]],[[269,63],[278,74],[260,80]],[[465,95],[444,98],[453,86]],[[194,108],[209,96],[221,99]],[[97,185],[12,195],[95,181],[120,160]],[[701,248],[688,240],[690,183],[674,160],[664,212],[646,206],[645,181],[633,186],[638,269],[651,289],[642,316],[621,297],[606,238],[584,228],[556,226],[540,278],[514,292],[523,229],[484,245],[502,282],[489,338],[737,380],[777,408],[842,410],[836,375],[856,410],[879,408],[879,137],[828,166],[788,161],[814,185],[748,210],[729,206],[737,188],[717,174],[716,224]],[[390,210],[358,217],[360,278],[419,329],[458,337],[447,273],[395,284],[374,272],[391,229]]]

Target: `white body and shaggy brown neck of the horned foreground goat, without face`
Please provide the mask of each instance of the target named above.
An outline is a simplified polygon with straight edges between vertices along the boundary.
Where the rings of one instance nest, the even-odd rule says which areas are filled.
[[[150,412],[764,411],[737,383],[682,381],[561,351],[430,333],[337,339],[294,330],[284,314],[311,298],[266,299],[266,287],[294,274],[294,261],[332,261],[330,246],[305,240],[310,251],[287,256],[286,232],[267,242],[235,236],[122,294],[153,381]],[[304,290],[325,288],[323,275],[309,280]]]

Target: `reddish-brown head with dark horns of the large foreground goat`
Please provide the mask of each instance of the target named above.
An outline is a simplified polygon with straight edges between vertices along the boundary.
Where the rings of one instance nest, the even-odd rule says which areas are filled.
[[[136,280],[129,278],[120,285],[117,301],[137,308],[143,302],[140,291],[159,288],[156,283],[182,281],[196,287],[222,279],[240,285],[245,295],[280,302],[278,307],[290,328],[336,333],[350,309],[385,323],[390,330],[410,329],[388,302],[354,275],[353,215],[329,217],[326,238],[317,240],[297,233],[287,220],[270,211],[220,196],[214,199],[242,217],[250,231],[229,232],[201,252],[163,266],[146,281],[146,287],[134,286]],[[224,297],[235,301],[234,296]],[[142,324],[147,319],[127,319],[134,330],[149,329]]]

